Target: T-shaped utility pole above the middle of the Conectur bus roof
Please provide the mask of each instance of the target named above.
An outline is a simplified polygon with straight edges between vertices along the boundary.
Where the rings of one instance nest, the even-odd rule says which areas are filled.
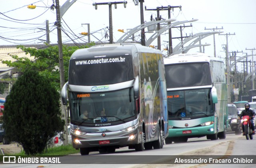
[[[127,1],[123,2],[102,2],[102,3],[93,3],[95,10],[98,9],[98,5],[108,5],[109,10],[109,43],[113,43],[113,26],[112,26],[112,5],[115,5],[115,9],[117,8],[117,4],[124,4],[124,8],[126,8]]]

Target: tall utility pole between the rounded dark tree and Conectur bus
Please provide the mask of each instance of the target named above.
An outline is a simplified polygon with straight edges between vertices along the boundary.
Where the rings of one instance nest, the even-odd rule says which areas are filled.
[[[56,3],[56,22],[55,25],[57,26],[57,36],[58,36],[58,48],[59,48],[59,71],[60,71],[60,90],[64,85],[64,65],[63,65],[63,52],[62,52],[62,38],[61,38],[61,18],[60,18],[60,4],[59,0],[55,0]],[[66,108],[62,104],[61,100],[61,111],[62,111],[62,119],[65,121],[64,125],[64,145],[68,145],[68,125],[67,125],[67,113]]]

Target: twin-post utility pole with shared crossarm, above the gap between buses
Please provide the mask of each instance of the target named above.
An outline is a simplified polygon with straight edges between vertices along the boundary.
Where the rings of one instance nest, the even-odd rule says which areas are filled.
[[[170,5],[168,5],[168,6],[157,7],[156,9],[147,9],[146,6],[145,6],[145,10],[157,11],[156,20],[161,20],[160,10],[168,10],[168,19],[170,19],[171,18],[170,10],[172,9],[172,11],[173,11],[174,8],[180,8],[180,10],[181,10],[181,6],[170,6]],[[170,22],[168,24],[170,24]],[[160,30],[160,24],[157,24],[157,30]],[[161,50],[161,38],[160,38],[160,36],[158,36],[158,38],[157,38],[157,49]],[[171,28],[169,29],[169,53],[172,53],[172,30],[171,30]]]

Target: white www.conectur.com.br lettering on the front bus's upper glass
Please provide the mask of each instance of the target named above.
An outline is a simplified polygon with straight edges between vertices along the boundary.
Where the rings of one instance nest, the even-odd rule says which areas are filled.
[[[76,65],[96,64],[96,63],[112,63],[112,62],[124,62],[123,57],[120,58],[100,58],[92,60],[76,61]]]

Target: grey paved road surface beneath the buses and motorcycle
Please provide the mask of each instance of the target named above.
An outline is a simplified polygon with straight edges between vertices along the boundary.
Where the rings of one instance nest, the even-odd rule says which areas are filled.
[[[256,136],[255,136],[256,138]],[[248,148],[244,146],[248,144]],[[178,167],[188,168],[192,166],[206,167],[206,168],[247,168],[254,167],[252,164],[172,164],[175,158],[180,158],[180,155],[192,156],[205,156],[205,155],[217,155],[218,157],[224,154],[228,155],[240,155],[239,158],[245,155],[256,155],[255,140],[246,140],[242,135],[235,135],[234,132],[227,134],[224,140],[206,140],[206,137],[202,138],[190,138],[186,143],[174,143],[164,145],[163,149],[158,150],[146,150],[142,152],[135,152],[135,150],[129,150],[128,148],[117,149],[113,154],[99,154],[98,152],[92,152],[89,156],[80,156],[80,154],[74,154],[74,156],[63,156],[63,162],[72,162],[73,164],[12,164],[1,165],[1,168],[36,168],[37,166],[45,166],[49,168],[167,168]],[[246,150],[245,150],[246,149]],[[250,149],[250,151],[248,151]],[[146,156],[145,156],[146,155]],[[114,159],[113,159],[114,158]],[[158,161],[160,164],[135,164],[144,160]],[[159,161],[161,160],[161,161]],[[256,157],[255,157],[256,160]],[[83,164],[74,164],[83,163]],[[88,164],[98,163],[98,164]]]

